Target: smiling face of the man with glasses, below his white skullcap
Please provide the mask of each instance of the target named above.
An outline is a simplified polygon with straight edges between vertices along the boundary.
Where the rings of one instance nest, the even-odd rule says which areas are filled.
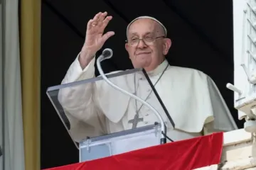
[[[147,72],[164,61],[171,47],[171,40],[164,38],[164,28],[149,18],[134,21],[129,26],[127,40],[125,48],[134,68],[144,68]]]

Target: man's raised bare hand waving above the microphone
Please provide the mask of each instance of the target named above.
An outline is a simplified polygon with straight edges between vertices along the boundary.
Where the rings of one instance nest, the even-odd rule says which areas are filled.
[[[107,12],[100,12],[97,13],[93,19],[88,21],[85,44],[82,47],[79,57],[82,69],[90,63],[96,52],[102,48],[106,40],[114,35],[113,31],[103,34],[110,20],[112,20],[112,16],[107,16]]]

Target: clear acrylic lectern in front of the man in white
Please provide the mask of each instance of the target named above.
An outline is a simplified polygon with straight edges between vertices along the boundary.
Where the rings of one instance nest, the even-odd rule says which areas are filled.
[[[144,81],[145,90],[151,91],[146,102],[161,117],[168,120],[164,122],[164,126],[174,127],[174,122],[164,103],[161,102],[161,98],[143,69],[114,72],[107,74],[106,77],[129,94],[134,94],[136,89],[134,80]],[[101,88],[106,86],[108,86],[107,91],[102,91]],[[163,126],[157,116],[154,123],[148,123],[139,116],[139,114],[149,112],[150,108],[112,88],[101,76],[74,81],[70,84],[51,86],[47,89],[47,95],[75,146],[80,151],[80,162],[160,145],[161,137],[163,135],[166,137],[161,130]],[[111,102],[112,108],[106,106],[106,103],[97,102],[99,97],[105,98],[106,103]],[[112,110],[114,106],[123,107],[124,111],[131,112],[135,103],[141,107],[141,110],[137,114],[134,110],[135,116],[130,120],[124,116],[125,118],[119,122],[113,122],[108,115],[110,111],[114,111]],[[105,108],[105,111],[102,111],[102,108]],[[134,128],[134,124],[137,125],[136,128]]]

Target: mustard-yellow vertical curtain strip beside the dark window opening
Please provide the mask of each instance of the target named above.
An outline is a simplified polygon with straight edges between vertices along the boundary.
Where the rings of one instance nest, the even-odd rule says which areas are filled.
[[[21,80],[26,170],[40,168],[41,1],[21,0]]]

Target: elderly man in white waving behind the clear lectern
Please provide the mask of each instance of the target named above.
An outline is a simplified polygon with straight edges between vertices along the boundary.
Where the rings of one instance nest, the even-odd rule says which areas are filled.
[[[97,13],[87,23],[85,43],[62,84],[95,77],[95,54],[114,35],[112,31],[104,34],[111,19],[112,16],[107,16],[107,12]],[[210,77],[196,69],[169,65],[165,56],[171,47],[171,40],[166,35],[166,28],[156,18],[135,18],[127,26],[125,48],[134,68],[144,68],[149,74],[176,124],[174,129],[167,116],[162,114],[167,136],[177,141],[236,129],[225,101]],[[134,86],[134,94],[149,103],[158,102],[150,99],[153,94],[151,89],[144,86],[146,79],[127,76],[111,81],[124,89],[125,86]],[[71,124],[70,132],[77,141],[90,135],[119,132],[158,121],[149,109],[130,99],[105,81],[61,89],[58,95]],[[140,121],[134,125],[132,120],[136,116]]]

